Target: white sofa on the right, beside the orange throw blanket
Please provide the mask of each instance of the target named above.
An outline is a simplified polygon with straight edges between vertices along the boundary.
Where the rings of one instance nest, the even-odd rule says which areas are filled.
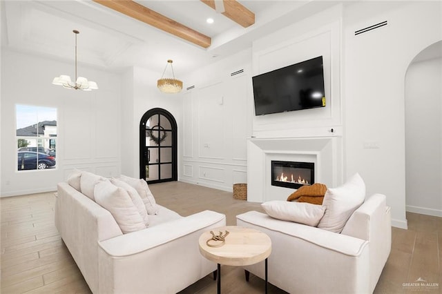
[[[236,218],[269,235],[268,280],[289,293],[372,293],[390,255],[390,207],[381,194],[366,199],[340,233],[257,211]],[[265,277],[262,262],[244,269]]]

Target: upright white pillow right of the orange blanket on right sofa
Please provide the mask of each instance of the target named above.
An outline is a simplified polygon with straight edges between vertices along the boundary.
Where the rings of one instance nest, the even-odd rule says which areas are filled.
[[[342,186],[328,188],[323,201],[326,210],[318,228],[340,233],[354,210],[363,204],[364,199],[365,183],[358,173]]]

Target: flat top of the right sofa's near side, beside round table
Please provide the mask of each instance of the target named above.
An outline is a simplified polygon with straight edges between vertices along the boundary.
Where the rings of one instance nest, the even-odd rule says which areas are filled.
[[[274,219],[258,211],[249,211],[242,215],[237,215],[236,219],[239,226],[253,224],[271,231],[303,239],[317,246],[349,256],[361,255],[368,244],[363,239],[326,231],[313,226]]]

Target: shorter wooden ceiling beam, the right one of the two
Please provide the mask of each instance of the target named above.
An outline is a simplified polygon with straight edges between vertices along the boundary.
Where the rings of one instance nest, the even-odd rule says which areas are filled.
[[[208,6],[216,10],[215,0],[201,0]],[[247,28],[255,23],[255,14],[248,10],[245,6],[242,6],[236,0],[222,0],[224,3],[224,16],[229,17],[232,21],[240,24],[244,28]]]

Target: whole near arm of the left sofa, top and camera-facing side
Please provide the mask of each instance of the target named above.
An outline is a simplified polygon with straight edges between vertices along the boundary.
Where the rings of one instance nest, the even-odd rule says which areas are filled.
[[[99,293],[182,291],[216,270],[198,239],[225,224],[225,215],[206,210],[99,242]]]

